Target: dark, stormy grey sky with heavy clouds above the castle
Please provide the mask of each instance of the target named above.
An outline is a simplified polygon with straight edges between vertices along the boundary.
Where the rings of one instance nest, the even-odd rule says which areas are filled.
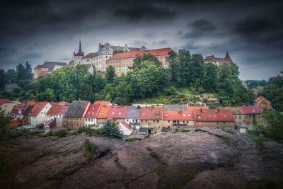
[[[283,1],[252,0],[4,0],[0,68],[28,61],[69,62],[99,42],[147,49],[171,47],[224,57],[240,79],[269,79],[283,71]]]

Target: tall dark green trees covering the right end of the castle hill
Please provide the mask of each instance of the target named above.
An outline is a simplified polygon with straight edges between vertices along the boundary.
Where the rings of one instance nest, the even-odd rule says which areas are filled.
[[[250,103],[253,94],[238,79],[236,64],[204,64],[202,55],[190,55],[187,50],[171,52],[169,56],[171,80],[179,86],[192,88],[199,93],[218,93],[222,105]]]

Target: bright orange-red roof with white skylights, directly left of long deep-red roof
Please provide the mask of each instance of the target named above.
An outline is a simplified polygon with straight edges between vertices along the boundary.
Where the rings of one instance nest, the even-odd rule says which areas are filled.
[[[163,120],[194,120],[192,110],[163,111]]]

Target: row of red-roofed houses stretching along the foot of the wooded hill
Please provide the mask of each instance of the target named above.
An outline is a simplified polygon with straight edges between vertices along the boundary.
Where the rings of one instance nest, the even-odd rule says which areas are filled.
[[[263,108],[271,109],[263,97],[254,105],[209,109],[208,106],[178,105],[115,105],[109,101],[72,101],[71,103],[27,102],[16,104],[1,99],[1,109],[14,117],[13,127],[30,124],[40,130],[65,127],[79,130],[83,126],[102,127],[106,120],[115,122],[124,134],[134,127],[253,127],[266,125],[262,118]],[[2,108],[3,107],[3,108]],[[21,120],[21,122],[20,122]]]

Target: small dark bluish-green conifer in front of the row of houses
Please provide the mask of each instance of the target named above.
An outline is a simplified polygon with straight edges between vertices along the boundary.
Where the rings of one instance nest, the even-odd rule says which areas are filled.
[[[122,139],[122,133],[119,128],[110,120],[107,120],[102,127],[101,135],[110,139]]]

